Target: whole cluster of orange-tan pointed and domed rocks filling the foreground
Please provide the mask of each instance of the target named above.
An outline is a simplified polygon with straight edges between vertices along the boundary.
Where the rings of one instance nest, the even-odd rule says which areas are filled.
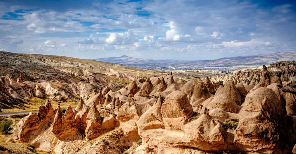
[[[47,131],[41,128],[50,128],[54,146],[47,148],[55,153],[117,127],[126,142],[142,140],[132,153],[184,153],[183,147],[191,153],[291,153],[293,147],[295,151],[296,94],[282,90],[292,81],[282,82],[280,75],[273,76],[263,66],[262,72],[245,78],[254,84],[250,87],[242,82],[242,74],[247,73],[237,73],[231,77],[235,80],[228,78],[218,89],[208,78],[184,82],[171,74],[140,84],[132,81],[117,92],[95,90],[86,102],[81,98],[75,110],[69,105],[65,114],[46,102],[38,114],[20,121],[14,136],[22,142],[33,140],[42,149],[40,137]],[[32,137],[38,137],[36,132],[39,139]]]

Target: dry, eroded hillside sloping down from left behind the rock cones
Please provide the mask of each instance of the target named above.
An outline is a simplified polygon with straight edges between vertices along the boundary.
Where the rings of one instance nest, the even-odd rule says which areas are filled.
[[[9,52],[0,52],[0,66],[0,100],[4,112],[38,110],[44,100],[55,100],[57,96],[61,98],[54,105],[75,106],[80,97],[88,99],[94,89],[102,91],[109,87],[117,91],[133,80],[170,73],[95,60]],[[173,74],[184,81],[195,76],[218,75]]]

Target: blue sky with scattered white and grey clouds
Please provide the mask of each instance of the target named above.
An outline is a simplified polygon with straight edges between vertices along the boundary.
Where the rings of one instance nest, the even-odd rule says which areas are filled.
[[[296,51],[296,1],[0,0],[0,51],[213,60]]]

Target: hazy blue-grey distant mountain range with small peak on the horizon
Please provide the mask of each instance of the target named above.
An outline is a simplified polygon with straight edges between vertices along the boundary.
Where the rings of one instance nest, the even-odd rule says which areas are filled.
[[[120,63],[147,70],[240,70],[250,66],[269,65],[279,61],[296,61],[296,52],[279,52],[251,56],[225,57],[216,60],[154,60],[133,58],[123,55],[94,59],[103,62]]]

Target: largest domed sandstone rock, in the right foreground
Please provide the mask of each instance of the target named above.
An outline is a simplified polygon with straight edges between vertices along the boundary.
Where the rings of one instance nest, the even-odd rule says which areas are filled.
[[[286,111],[276,94],[261,87],[247,95],[241,109],[234,142],[254,152],[271,153],[283,146]]]

